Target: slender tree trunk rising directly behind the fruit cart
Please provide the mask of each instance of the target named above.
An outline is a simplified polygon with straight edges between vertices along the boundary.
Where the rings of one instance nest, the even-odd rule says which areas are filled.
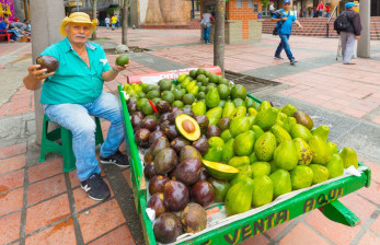
[[[226,0],[217,0],[214,35],[214,66],[219,66],[224,75],[224,14]]]

